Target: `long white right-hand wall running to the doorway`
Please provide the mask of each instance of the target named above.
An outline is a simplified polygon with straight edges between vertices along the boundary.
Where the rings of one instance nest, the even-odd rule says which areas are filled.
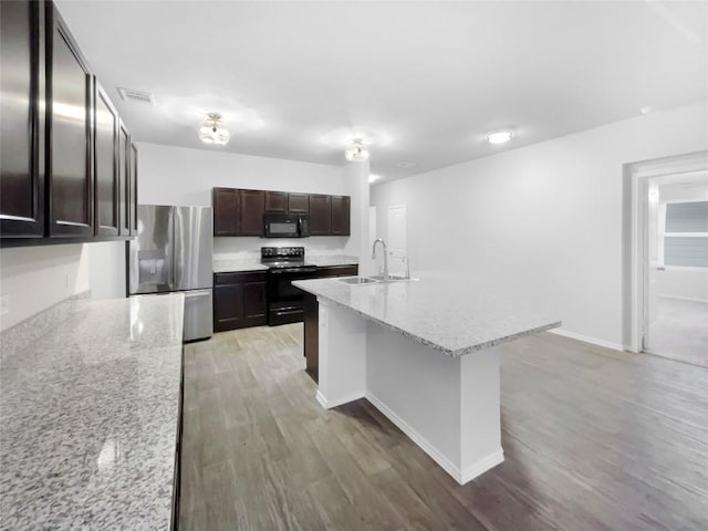
[[[407,205],[413,274],[487,277],[618,346],[623,165],[702,149],[706,108],[684,107],[381,184],[372,204]]]

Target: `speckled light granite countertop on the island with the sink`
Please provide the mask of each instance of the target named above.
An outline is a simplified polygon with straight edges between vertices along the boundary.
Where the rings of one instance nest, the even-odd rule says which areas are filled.
[[[353,285],[337,279],[293,285],[450,356],[460,356],[561,325],[533,304],[481,279],[427,274],[418,280]]]

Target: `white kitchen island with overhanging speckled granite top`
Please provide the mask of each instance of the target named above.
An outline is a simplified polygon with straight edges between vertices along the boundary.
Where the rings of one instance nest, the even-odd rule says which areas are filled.
[[[319,303],[323,407],[365,397],[460,485],[503,461],[498,345],[560,320],[464,275],[293,285]]]

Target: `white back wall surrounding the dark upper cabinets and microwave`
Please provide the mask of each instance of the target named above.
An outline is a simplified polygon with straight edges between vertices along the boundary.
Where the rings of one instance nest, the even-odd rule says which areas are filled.
[[[253,157],[215,149],[189,149],[138,143],[138,202],[211,206],[211,188],[253,188],[350,195],[341,166]],[[216,238],[215,257],[259,251],[261,246],[304,246],[306,252],[343,252],[348,238],[303,240]]]

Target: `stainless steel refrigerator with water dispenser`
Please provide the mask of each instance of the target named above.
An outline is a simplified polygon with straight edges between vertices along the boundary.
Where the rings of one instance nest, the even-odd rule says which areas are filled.
[[[185,341],[211,337],[211,208],[138,205],[137,218],[128,250],[131,294],[184,292]]]

